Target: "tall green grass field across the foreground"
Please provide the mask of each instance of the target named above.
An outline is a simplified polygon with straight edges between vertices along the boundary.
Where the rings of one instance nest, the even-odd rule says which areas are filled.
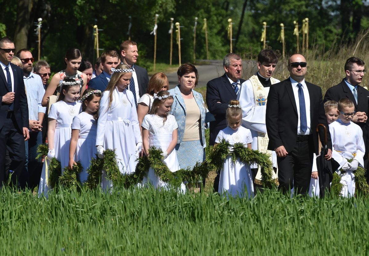
[[[368,255],[369,199],[1,191],[1,255]]]

